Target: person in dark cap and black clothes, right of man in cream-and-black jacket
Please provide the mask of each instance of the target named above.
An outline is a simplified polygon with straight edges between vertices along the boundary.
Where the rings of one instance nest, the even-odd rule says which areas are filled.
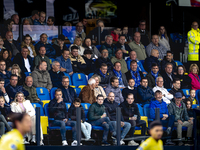
[[[86,63],[86,69],[84,70],[84,73],[86,75],[90,74],[90,73],[94,73],[95,72],[95,63],[94,60],[92,59],[92,52],[89,49],[86,49],[84,51],[84,55],[83,55],[83,59],[85,60]]]

